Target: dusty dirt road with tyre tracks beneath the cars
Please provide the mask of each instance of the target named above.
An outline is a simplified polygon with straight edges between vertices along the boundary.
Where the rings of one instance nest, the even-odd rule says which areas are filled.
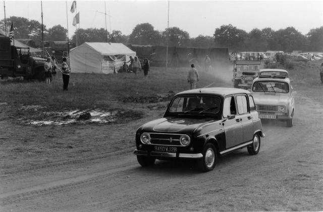
[[[99,132],[108,145],[129,140],[115,152],[84,151],[68,160],[58,154],[50,163],[3,170],[0,211],[323,210],[323,107],[301,94],[296,102],[294,127],[263,122],[266,137],[257,155],[241,149],[208,173],[187,162],[139,166],[131,136],[163,109],[128,124],[73,126],[74,136]]]

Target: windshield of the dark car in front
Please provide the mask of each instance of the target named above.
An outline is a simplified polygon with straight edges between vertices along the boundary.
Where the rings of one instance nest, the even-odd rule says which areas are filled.
[[[169,108],[171,113],[211,113],[217,114],[220,111],[220,97],[207,95],[192,95],[176,97]]]

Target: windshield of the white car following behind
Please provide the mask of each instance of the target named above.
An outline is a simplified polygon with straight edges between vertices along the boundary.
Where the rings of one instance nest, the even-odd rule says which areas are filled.
[[[274,92],[274,93],[288,93],[289,86],[286,82],[276,81],[258,81],[253,83],[253,92]]]

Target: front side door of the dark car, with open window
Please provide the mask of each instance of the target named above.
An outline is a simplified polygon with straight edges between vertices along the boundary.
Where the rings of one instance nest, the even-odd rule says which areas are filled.
[[[225,97],[222,116],[222,125],[226,137],[226,149],[242,143],[243,130],[240,117],[237,115],[234,95]],[[228,118],[228,116],[231,118]]]

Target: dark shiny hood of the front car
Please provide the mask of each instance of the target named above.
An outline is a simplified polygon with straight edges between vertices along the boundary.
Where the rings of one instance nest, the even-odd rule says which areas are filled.
[[[212,118],[167,117],[148,122],[142,130],[163,133],[192,133],[199,126],[215,121]]]

